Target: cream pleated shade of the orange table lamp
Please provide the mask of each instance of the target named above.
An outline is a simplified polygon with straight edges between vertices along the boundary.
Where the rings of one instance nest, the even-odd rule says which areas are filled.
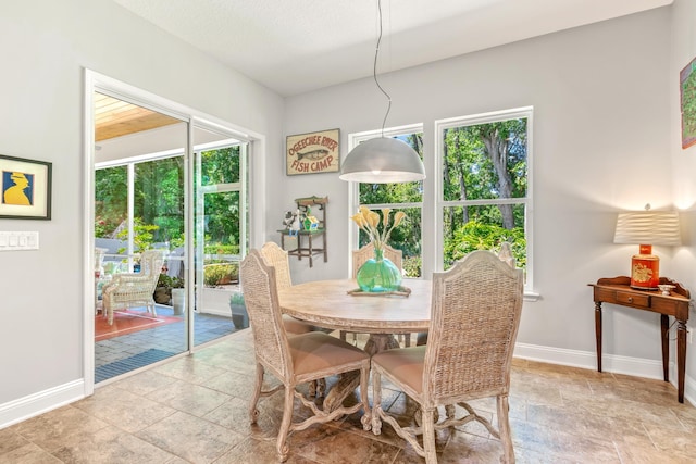
[[[617,220],[614,243],[682,244],[676,211],[639,211],[620,213]]]

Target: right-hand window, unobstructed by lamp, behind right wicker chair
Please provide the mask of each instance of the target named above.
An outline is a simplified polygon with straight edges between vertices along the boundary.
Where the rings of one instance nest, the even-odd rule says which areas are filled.
[[[532,108],[437,121],[437,263],[511,244],[531,279]]]

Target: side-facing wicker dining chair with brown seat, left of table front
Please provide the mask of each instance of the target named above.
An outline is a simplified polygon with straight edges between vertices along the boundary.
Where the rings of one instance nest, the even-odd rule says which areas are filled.
[[[256,353],[256,383],[250,402],[251,423],[259,417],[259,398],[268,397],[285,388],[283,419],[281,422],[276,450],[282,462],[287,460],[288,435],[303,430],[314,424],[325,424],[345,414],[363,410],[363,428],[370,430],[370,406],[368,404],[368,383],[370,355],[357,347],[323,331],[310,331],[288,337],[283,326],[278,304],[276,269],[268,265],[261,253],[253,249],[241,262],[241,285],[249,312]],[[264,373],[269,372],[281,380],[281,385],[263,390]],[[339,405],[333,411],[324,411],[297,390],[297,386],[327,376],[360,371],[360,401],[351,406]],[[293,423],[295,398],[309,407],[311,415]]]

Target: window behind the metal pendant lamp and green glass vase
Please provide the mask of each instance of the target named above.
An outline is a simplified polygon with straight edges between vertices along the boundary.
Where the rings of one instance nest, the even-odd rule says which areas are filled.
[[[350,136],[350,146],[356,147],[362,141],[381,136],[382,130],[353,134]],[[384,136],[403,140],[415,150],[421,159],[423,159],[422,125],[419,124],[385,129]],[[355,214],[359,206],[362,205],[368,206],[371,210],[389,208],[391,209],[393,214],[397,211],[403,211],[407,214],[407,220],[391,231],[388,244],[401,250],[403,253],[403,272],[406,277],[420,277],[422,274],[421,250],[423,248],[421,234],[423,223],[423,183],[357,183],[352,203],[351,214]],[[350,222],[350,227],[353,237],[351,243],[358,243],[358,247],[365,244],[368,239],[364,236],[364,233],[358,231],[358,228],[352,222]]]

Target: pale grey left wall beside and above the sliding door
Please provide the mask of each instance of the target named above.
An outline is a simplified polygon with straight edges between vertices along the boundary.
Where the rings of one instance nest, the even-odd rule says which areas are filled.
[[[38,251],[0,253],[0,426],[27,399],[72,394],[83,378],[84,68],[281,143],[283,100],[107,0],[0,5],[0,154],[53,163],[51,221]],[[26,401],[25,401],[26,400]],[[39,401],[40,403],[40,401]],[[50,404],[47,404],[47,407]]]

